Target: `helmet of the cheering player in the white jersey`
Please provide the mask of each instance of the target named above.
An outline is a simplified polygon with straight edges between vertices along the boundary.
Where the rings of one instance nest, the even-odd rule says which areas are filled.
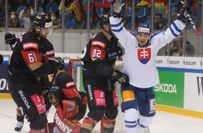
[[[151,34],[150,24],[147,22],[140,23],[139,26],[137,27],[137,33]]]

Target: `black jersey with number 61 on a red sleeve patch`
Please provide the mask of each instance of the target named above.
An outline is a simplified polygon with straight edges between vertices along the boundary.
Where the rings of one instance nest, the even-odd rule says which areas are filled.
[[[40,63],[46,64],[48,58],[52,57],[54,57],[52,44],[46,38],[40,38],[34,32],[27,32],[23,34],[22,41],[18,42],[13,49],[8,68],[9,78],[13,81],[24,83],[30,81],[38,84],[39,77],[43,73],[35,72],[35,69],[39,67]],[[41,67],[45,66],[42,65]],[[49,69],[54,68],[50,67]],[[44,71],[44,75],[48,73],[48,71]]]

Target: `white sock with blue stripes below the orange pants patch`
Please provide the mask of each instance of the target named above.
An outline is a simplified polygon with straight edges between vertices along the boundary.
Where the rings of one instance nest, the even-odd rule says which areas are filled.
[[[124,122],[126,133],[139,133],[138,132],[138,111],[134,108],[125,110]]]

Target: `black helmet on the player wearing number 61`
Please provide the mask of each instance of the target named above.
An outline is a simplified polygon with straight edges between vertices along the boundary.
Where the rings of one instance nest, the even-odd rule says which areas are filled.
[[[52,19],[48,15],[34,15],[32,19],[33,26],[40,26],[42,28],[52,27]]]

